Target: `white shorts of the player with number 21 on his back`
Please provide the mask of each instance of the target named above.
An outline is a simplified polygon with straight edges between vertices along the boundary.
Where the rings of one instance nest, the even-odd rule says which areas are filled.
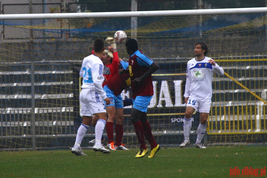
[[[80,115],[93,116],[95,113],[107,112],[102,98],[94,88],[83,88],[80,93]]]

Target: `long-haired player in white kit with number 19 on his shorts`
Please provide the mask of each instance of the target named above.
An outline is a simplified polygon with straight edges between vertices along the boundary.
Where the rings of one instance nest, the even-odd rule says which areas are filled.
[[[184,141],[180,147],[186,147],[190,144],[189,134],[192,127],[192,116],[196,110],[200,113],[200,123],[198,125],[198,134],[195,146],[197,148],[206,148],[201,140],[206,132],[206,123],[209,116],[211,98],[212,98],[212,78],[214,72],[223,75],[223,69],[211,58],[206,57],[209,52],[204,42],[198,42],[195,45],[196,58],[187,62],[186,84],[185,84],[185,119],[184,119]]]

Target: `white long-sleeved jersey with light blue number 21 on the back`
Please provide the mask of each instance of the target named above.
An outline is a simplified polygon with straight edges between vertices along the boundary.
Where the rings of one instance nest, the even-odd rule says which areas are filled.
[[[107,98],[106,92],[103,90],[104,82],[104,65],[101,59],[96,55],[89,55],[82,61],[80,77],[83,77],[82,88],[95,88],[97,93],[104,100]]]

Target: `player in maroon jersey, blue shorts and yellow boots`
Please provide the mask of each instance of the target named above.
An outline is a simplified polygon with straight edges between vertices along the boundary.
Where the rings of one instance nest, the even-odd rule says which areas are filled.
[[[120,74],[128,71],[131,76],[134,104],[131,111],[131,121],[140,143],[140,151],[135,157],[141,158],[147,154],[148,150],[144,139],[146,137],[151,146],[148,158],[153,158],[160,149],[160,146],[155,142],[150,124],[147,121],[147,107],[154,94],[151,74],[158,70],[159,66],[139,50],[138,43],[135,39],[128,39],[125,47],[127,53],[130,55],[129,68],[125,71],[120,71]]]

